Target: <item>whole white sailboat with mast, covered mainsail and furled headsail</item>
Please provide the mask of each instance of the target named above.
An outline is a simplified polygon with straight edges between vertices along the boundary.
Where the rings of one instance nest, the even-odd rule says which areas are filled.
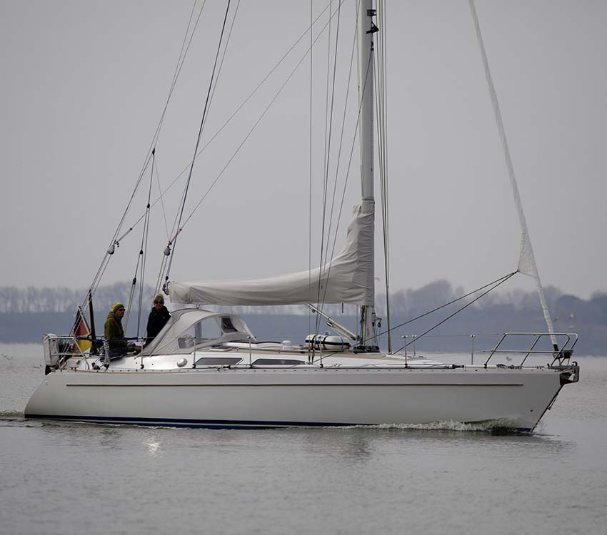
[[[471,8],[511,171],[472,0]],[[577,338],[553,332],[513,171],[522,236],[518,271],[538,283],[548,332],[531,335],[533,342],[520,353],[521,362],[508,366],[494,364],[496,355],[506,352],[513,337],[530,333],[504,334],[480,365],[412,357],[406,349],[380,350],[374,312],[373,61],[374,40],[381,31],[377,16],[373,0],[362,0],[358,6],[361,203],[353,209],[341,252],[316,269],[277,277],[166,280],[164,290],[171,302],[196,307],[174,310],[139,354],[110,359],[106,341],[89,335],[90,347],[83,347],[87,337],[76,329],[69,336],[45,335],[47,374],[29,399],[27,418],[209,428],[489,422],[530,432],[561,388],[578,381],[579,367],[571,360]],[[175,240],[176,236],[167,256],[174,252],[170,246]],[[112,245],[108,255],[113,253]],[[319,302],[356,305],[358,332],[328,317]],[[336,334],[316,332],[302,344],[261,342],[243,317],[205,308],[211,305],[307,305],[325,317]],[[552,349],[536,350],[546,338]],[[536,354],[548,355],[551,363],[525,366],[527,357]]]

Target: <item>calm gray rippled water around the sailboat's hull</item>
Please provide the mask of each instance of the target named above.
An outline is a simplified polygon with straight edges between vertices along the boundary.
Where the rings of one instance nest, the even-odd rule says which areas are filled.
[[[529,435],[26,421],[41,355],[0,345],[1,534],[605,532],[605,357]]]

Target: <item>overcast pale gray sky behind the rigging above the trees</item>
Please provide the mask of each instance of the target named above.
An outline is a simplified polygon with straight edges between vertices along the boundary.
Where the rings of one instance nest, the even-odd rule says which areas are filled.
[[[207,4],[156,146],[163,186],[194,152],[225,6]],[[0,0],[2,285],[89,285],[144,163],[192,5]],[[324,6],[315,0],[314,13]],[[581,297],[607,290],[607,3],[478,0],[476,6],[543,283]],[[336,125],[353,2],[342,9]],[[472,290],[516,269],[519,230],[468,2],[393,1],[388,16],[391,287],[446,278]],[[307,1],[241,1],[203,143],[309,17]],[[316,264],[325,37],[313,54]],[[299,46],[287,58],[196,162],[186,213],[303,52]],[[257,277],[308,267],[309,86],[306,58],[186,226],[171,278]],[[333,148],[338,139],[336,127]],[[358,202],[357,144],[354,158],[338,243]],[[343,172],[347,158],[340,166]],[[340,180],[339,191],[343,173]],[[144,212],[148,188],[149,173],[128,223]],[[180,180],[165,199],[169,226],[182,188]],[[156,180],[153,192],[156,198]],[[154,284],[166,245],[160,204],[151,218],[146,278]],[[379,217],[376,225],[381,230]],[[121,244],[104,282],[131,279],[140,243],[141,226]],[[380,252],[378,246],[381,291]],[[524,277],[515,278],[510,288],[529,288]]]

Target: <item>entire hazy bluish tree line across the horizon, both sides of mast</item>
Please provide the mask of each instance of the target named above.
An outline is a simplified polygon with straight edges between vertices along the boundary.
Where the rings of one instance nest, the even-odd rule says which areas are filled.
[[[131,283],[117,282],[100,286],[93,297],[97,330],[103,325],[107,311],[117,301],[126,305],[131,292]],[[142,301],[143,320],[137,319],[139,310],[139,287],[132,304],[129,332],[139,323],[145,329],[145,322],[154,289],[144,287]],[[399,347],[404,335],[419,335],[432,329],[444,318],[457,312],[471,302],[474,295],[441,308],[431,315],[428,310],[456,300],[466,292],[462,287],[453,287],[446,280],[431,282],[416,290],[399,290],[391,295],[391,327],[393,348]],[[69,332],[73,325],[76,308],[84,302],[86,290],[59,288],[16,288],[0,287],[0,341],[36,342],[41,332]],[[546,288],[546,299],[557,332],[577,332],[580,335],[578,354],[607,356],[607,292],[595,292],[590,299],[583,300],[574,295],[563,294],[556,287]],[[387,330],[385,295],[377,295],[376,313],[383,317],[381,332]],[[169,305],[171,308],[171,305]],[[214,309],[216,307],[208,307]],[[308,313],[307,307],[219,307],[221,310],[239,313],[246,318],[256,335],[262,338],[288,337],[294,341],[303,340],[308,332],[316,332],[316,315]],[[88,310],[84,311],[88,315]],[[356,311],[351,305],[326,305],[323,312],[356,331]],[[262,318],[261,315],[265,317]],[[267,320],[267,321],[266,321]],[[402,325],[404,324],[404,325]],[[322,320],[318,332],[328,330]],[[490,346],[495,335],[500,332],[546,332],[541,307],[536,292],[513,290],[492,292],[458,312],[448,322],[419,340],[418,348],[424,350],[466,350],[470,345],[469,335],[492,335],[486,339]],[[132,332],[131,332],[132,334]],[[453,346],[453,337],[461,337],[458,346]],[[301,341],[300,340],[300,341]],[[386,342],[386,335],[383,336]],[[410,339],[409,339],[410,340]],[[461,347],[460,347],[461,346]]]

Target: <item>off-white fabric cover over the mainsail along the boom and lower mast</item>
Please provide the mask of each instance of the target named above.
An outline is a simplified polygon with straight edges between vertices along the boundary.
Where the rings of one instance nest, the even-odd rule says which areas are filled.
[[[300,305],[345,302],[373,305],[373,201],[353,208],[346,243],[313,270],[252,280],[171,282],[171,302],[196,305]]]

